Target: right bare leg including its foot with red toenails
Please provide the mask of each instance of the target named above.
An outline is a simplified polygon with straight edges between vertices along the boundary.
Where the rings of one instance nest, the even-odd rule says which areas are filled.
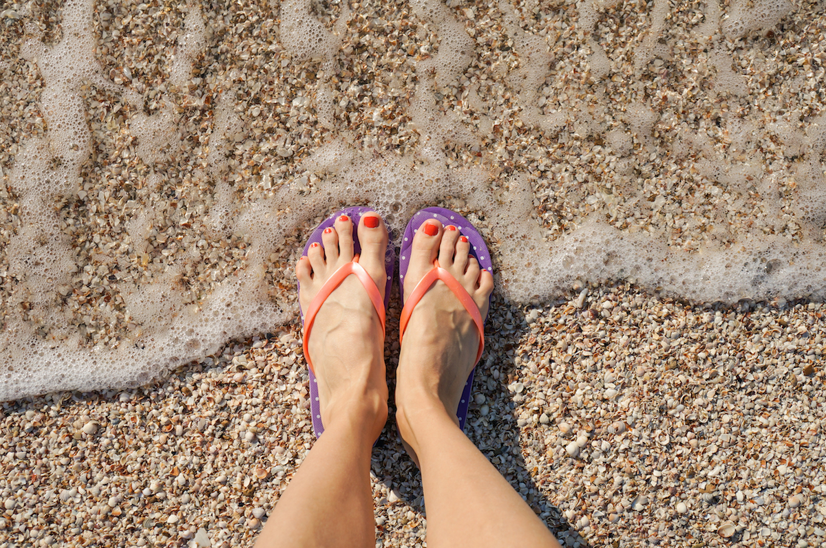
[[[411,250],[409,295],[435,258],[487,314],[491,274],[468,257],[453,227],[428,220]],[[481,271],[481,272],[480,272]],[[476,358],[478,333],[441,281],[411,314],[396,372],[399,432],[420,465],[427,506],[428,546],[547,546],[558,542],[527,503],[458,429],[456,409]]]

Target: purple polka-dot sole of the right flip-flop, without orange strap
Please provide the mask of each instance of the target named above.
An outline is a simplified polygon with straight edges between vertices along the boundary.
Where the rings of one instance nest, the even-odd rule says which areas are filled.
[[[402,288],[399,293],[401,294],[402,305],[404,305],[404,283],[405,283],[405,274],[407,273],[407,268],[410,266],[411,262],[411,246],[413,245],[413,235],[416,231],[418,231],[419,227],[425,220],[428,219],[435,219],[438,220],[443,226],[447,226],[448,224],[453,224],[453,226],[458,229],[459,233],[468,238],[470,242],[470,254],[473,257],[476,257],[476,260],[479,262],[479,266],[487,270],[487,272],[493,273],[493,263],[491,262],[491,253],[487,250],[487,245],[485,244],[485,240],[482,238],[482,234],[479,234],[479,231],[474,227],[469,220],[465,219],[462,215],[459,215],[455,211],[446,210],[443,207],[428,207],[424,210],[420,210],[411,218],[410,222],[407,223],[407,228],[405,229],[405,234],[401,239],[401,252],[399,253],[399,286]],[[484,321],[485,319],[482,319]],[[476,371],[476,368],[473,368],[473,371]],[[465,383],[464,390],[462,392],[462,399],[459,400],[459,407],[456,411],[456,417],[459,419],[459,428],[464,430],[465,420],[468,418],[468,406],[470,405],[470,396],[471,390],[473,385],[473,371],[470,372],[470,376],[468,376],[468,381]]]

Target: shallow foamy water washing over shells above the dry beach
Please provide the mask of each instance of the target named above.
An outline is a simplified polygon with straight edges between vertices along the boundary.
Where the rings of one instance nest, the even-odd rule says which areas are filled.
[[[818,2],[0,9],[0,399],[296,318],[339,206],[476,223],[497,286],[822,300]]]

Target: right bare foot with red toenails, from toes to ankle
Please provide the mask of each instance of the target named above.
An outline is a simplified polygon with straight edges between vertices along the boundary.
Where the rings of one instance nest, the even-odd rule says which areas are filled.
[[[413,238],[405,299],[438,258],[439,266],[462,284],[484,318],[493,276],[479,267],[469,251],[470,243],[453,225],[443,228],[438,220],[426,220]],[[415,422],[440,409],[458,427],[456,410],[478,347],[479,333],[470,314],[443,281],[436,281],[411,314],[396,371],[396,421],[416,464]]]

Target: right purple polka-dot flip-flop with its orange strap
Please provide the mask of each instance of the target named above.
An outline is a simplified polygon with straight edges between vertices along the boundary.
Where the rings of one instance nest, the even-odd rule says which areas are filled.
[[[430,286],[433,285],[434,281],[441,279],[462,302],[465,309],[468,310],[468,313],[473,316],[474,323],[477,325],[477,329],[479,330],[479,351],[477,352],[476,362],[478,364],[479,358],[482,357],[482,350],[485,347],[485,319],[481,318],[479,309],[477,308],[477,305],[473,301],[472,297],[468,295],[468,291],[465,291],[465,289],[459,285],[458,281],[456,281],[456,278],[450,276],[447,271],[444,269],[439,269],[438,261],[434,264],[434,269],[425,275],[425,278],[422,278],[419,284],[415,287],[414,291],[411,293],[411,300],[406,305],[404,303],[405,275],[407,273],[407,268],[410,267],[413,235],[419,230],[421,224],[428,219],[438,220],[443,226],[453,224],[453,226],[455,226],[463,236],[468,238],[468,241],[470,242],[470,254],[473,257],[476,257],[476,260],[479,262],[479,266],[487,270],[487,272],[491,272],[491,274],[493,273],[491,253],[487,250],[487,245],[485,245],[485,240],[482,238],[482,234],[479,234],[479,231],[470,223],[469,220],[465,219],[462,215],[459,215],[455,211],[446,210],[443,207],[428,207],[413,215],[410,222],[407,223],[404,237],[401,240],[401,252],[399,253],[399,286],[401,287],[401,291],[399,291],[399,293],[401,294],[402,305],[404,305],[404,308],[401,310],[399,341],[401,343],[401,337],[404,335],[404,331],[407,326],[407,319],[410,318],[410,314],[415,308],[415,305],[419,303],[422,295],[427,292]],[[442,277],[444,275],[447,275],[448,278]],[[426,284],[426,286],[424,286],[424,284]],[[465,420],[468,418],[468,405],[470,405],[470,395],[473,385],[473,371],[475,371],[475,369],[476,365],[474,365],[474,369],[470,372],[470,376],[468,376],[468,381],[465,383],[464,390],[462,392],[462,399],[459,400],[459,407],[456,411],[456,417],[459,419],[459,428],[462,430],[464,430]]]

